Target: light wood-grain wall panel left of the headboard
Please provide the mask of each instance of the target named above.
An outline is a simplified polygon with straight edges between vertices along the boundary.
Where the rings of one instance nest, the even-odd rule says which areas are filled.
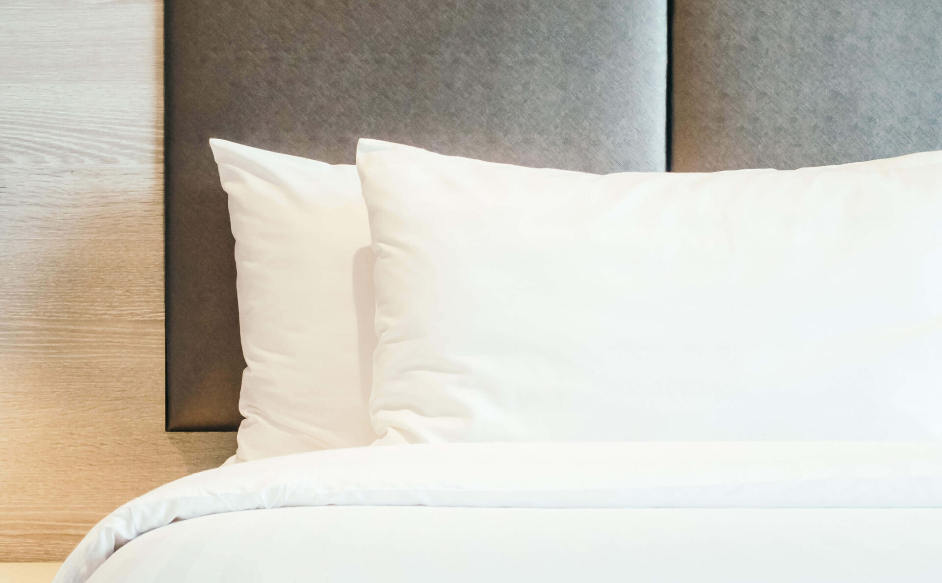
[[[235,451],[163,430],[162,11],[0,3],[0,562]]]

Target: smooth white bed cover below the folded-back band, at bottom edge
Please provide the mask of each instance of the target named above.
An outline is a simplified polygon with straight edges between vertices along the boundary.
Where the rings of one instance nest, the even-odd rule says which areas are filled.
[[[89,583],[909,583],[942,510],[307,507],[187,520]]]

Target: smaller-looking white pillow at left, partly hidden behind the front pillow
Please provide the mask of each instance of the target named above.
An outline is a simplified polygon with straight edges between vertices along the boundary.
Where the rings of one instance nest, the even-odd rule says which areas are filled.
[[[356,169],[211,139],[235,235],[235,461],[369,445],[373,255]]]

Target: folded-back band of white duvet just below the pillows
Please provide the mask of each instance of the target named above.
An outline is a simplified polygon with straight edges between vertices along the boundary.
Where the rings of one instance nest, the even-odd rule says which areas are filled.
[[[284,456],[195,474],[125,504],[89,532],[55,581],[84,582],[116,550],[171,523],[240,510],[327,505],[938,509],[942,445],[400,445]]]

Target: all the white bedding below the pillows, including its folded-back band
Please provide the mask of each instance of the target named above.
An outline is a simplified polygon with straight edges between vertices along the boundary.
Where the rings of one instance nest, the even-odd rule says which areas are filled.
[[[326,510],[327,505],[447,508]],[[286,510],[240,511],[257,509]],[[859,565],[877,561],[888,569],[885,576],[856,580],[938,580],[942,510],[934,509],[942,509],[939,444],[464,444],[337,449],[224,466],[145,494],[95,526],[66,560],[56,581],[75,583],[89,577],[93,583],[304,577],[353,581],[368,574],[375,575],[370,579],[382,575],[383,580],[440,581],[445,573],[448,580],[455,580],[456,574],[483,574],[502,565],[507,565],[506,573],[518,575],[525,569],[549,569],[546,573],[557,575],[550,578],[559,579],[566,578],[561,576],[566,569],[570,573],[589,569],[586,573],[602,577],[609,569],[632,565],[640,565],[642,571],[654,569],[658,561],[670,567],[665,573],[671,569],[679,573],[675,563],[688,557],[690,577],[703,567],[697,565],[697,557],[707,563],[715,557],[710,564],[721,576],[736,568],[723,559],[723,553],[757,553],[774,564],[787,560],[789,553],[810,552],[809,541],[818,541],[814,545],[823,544],[822,548],[839,547],[828,559],[832,562],[818,570],[820,574],[842,569],[847,580],[854,580],[851,575],[860,573]],[[421,527],[422,520],[432,526]],[[398,538],[402,533],[414,541]],[[782,543],[776,546],[778,539]],[[325,541],[330,543],[326,547],[321,543]],[[151,544],[161,550],[152,551]],[[455,552],[466,544],[471,545],[467,553]],[[701,544],[706,546],[694,548]],[[398,548],[409,549],[408,556],[396,555]],[[671,560],[680,549],[692,555]],[[713,550],[704,554],[705,549]],[[535,565],[528,554],[548,562]],[[854,555],[859,555],[859,565],[846,564]],[[240,559],[230,560],[236,556]],[[313,559],[317,556],[330,559],[318,563]],[[393,560],[383,559],[387,556],[411,561],[409,573],[417,575],[384,566],[383,561]],[[361,564],[370,557],[376,565]],[[215,559],[207,562],[209,558]],[[741,559],[755,567],[755,557]],[[297,564],[288,564],[291,560]],[[565,565],[553,571],[552,565],[560,561]],[[106,566],[96,574],[103,563]],[[236,568],[243,563],[281,565],[278,568],[284,571],[277,576],[253,574],[247,566]],[[141,566],[145,564],[150,567]],[[200,569],[194,570],[196,564],[214,571],[201,575]],[[134,565],[138,571],[133,572]],[[916,570],[912,576],[906,575],[912,569]],[[330,575],[334,572],[336,576]],[[748,573],[755,575],[743,571]],[[897,578],[886,578],[893,573]],[[928,575],[934,579],[919,578]],[[521,579],[509,576],[508,580]]]

